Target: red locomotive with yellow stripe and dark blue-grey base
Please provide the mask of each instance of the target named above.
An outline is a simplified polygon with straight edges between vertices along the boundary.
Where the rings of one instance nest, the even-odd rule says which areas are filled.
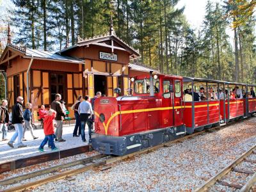
[[[186,134],[182,77],[150,74],[131,80],[132,96],[95,100],[92,146],[103,154],[123,156]]]

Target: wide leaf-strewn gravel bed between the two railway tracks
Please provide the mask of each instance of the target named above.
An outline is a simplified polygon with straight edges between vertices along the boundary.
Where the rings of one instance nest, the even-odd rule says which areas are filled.
[[[148,154],[57,180],[33,191],[191,191],[256,143],[256,118]],[[236,175],[235,175],[236,176]],[[238,175],[240,176],[240,175]],[[215,191],[230,191],[215,186]]]

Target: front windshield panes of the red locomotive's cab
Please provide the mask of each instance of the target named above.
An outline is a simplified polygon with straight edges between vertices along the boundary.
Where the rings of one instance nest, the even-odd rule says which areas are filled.
[[[134,81],[134,92],[137,94],[146,94],[150,90],[150,81],[149,79],[138,79]],[[154,79],[154,93],[159,92],[159,79]]]

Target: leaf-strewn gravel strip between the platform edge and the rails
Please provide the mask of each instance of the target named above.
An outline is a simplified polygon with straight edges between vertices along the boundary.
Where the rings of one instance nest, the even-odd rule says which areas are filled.
[[[44,170],[45,168],[51,168],[52,166],[70,163],[72,161],[77,161],[79,159],[84,159],[87,157],[95,156],[97,154],[99,154],[99,153],[95,152],[95,151],[86,152],[84,154],[78,154],[76,156],[65,157],[65,158],[58,159],[58,160],[48,161],[45,163],[35,164],[32,166],[27,166],[25,168],[20,168],[18,170],[13,170],[10,172],[4,172],[4,173],[0,174],[0,180],[10,179],[12,177],[17,177],[17,176],[24,175],[27,173],[36,172],[38,170]],[[3,190],[1,185],[0,185],[0,190]]]

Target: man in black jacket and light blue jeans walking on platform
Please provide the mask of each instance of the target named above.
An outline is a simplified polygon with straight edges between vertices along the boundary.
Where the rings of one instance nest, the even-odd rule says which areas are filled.
[[[7,143],[10,147],[13,148],[13,142],[18,137],[18,148],[20,147],[27,147],[27,145],[24,145],[22,143],[22,135],[23,135],[23,124],[24,124],[24,118],[23,118],[23,109],[22,104],[24,100],[22,97],[17,97],[17,102],[15,106],[12,108],[12,124],[15,126],[15,133],[13,134],[11,140]]]

